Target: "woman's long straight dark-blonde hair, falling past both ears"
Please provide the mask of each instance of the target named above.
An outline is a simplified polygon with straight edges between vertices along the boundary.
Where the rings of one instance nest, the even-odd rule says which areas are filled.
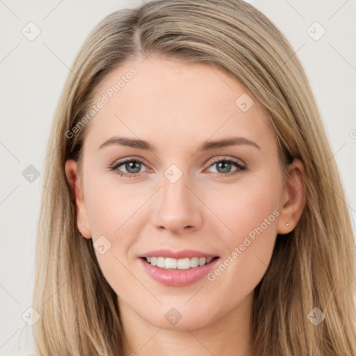
[[[65,177],[65,161],[81,157],[88,124],[74,137],[66,133],[88,112],[95,88],[111,70],[152,53],[232,74],[268,111],[283,170],[293,159],[305,165],[305,210],[291,233],[277,235],[254,291],[254,355],[356,355],[355,244],[337,165],[289,42],[240,0],[149,1],[108,15],[81,47],[47,147],[33,296],[41,316],[33,326],[39,354],[122,355],[117,296],[91,239],[76,227]],[[318,325],[308,318],[316,307],[325,314]]]

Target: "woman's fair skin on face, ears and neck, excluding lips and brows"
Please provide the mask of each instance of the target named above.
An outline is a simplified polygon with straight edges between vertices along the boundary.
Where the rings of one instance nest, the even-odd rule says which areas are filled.
[[[79,231],[93,242],[102,235],[111,242],[104,254],[96,254],[118,294],[124,355],[251,355],[253,291],[266,272],[277,234],[291,232],[300,220],[303,165],[292,163],[283,181],[266,111],[216,67],[153,54],[131,60],[106,76],[93,103],[131,67],[138,70],[136,76],[89,123],[83,170],[75,161],[65,164]],[[246,112],[235,104],[243,93],[254,100]],[[261,149],[234,145],[197,151],[206,140],[232,133]],[[120,145],[99,149],[115,135],[147,140],[156,151]],[[117,169],[140,170],[138,177],[110,169],[125,158],[143,159],[136,171],[134,165]],[[235,159],[247,169],[232,164],[224,170],[212,159]],[[164,175],[172,164],[183,173],[175,184]],[[213,282],[203,278],[188,286],[164,286],[145,273],[138,259],[167,248],[210,252],[223,261],[273,211],[279,216]],[[182,315],[175,325],[165,319],[172,307]]]

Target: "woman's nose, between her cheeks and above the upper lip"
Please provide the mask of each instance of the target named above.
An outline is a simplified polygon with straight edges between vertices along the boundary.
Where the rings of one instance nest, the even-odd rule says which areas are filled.
[[[157,229],[184,234],[200,228],[203,204],[185,177],[183,175],[175,183],[163,177],[154,201],[156,209],[152,213],[152,223]]]

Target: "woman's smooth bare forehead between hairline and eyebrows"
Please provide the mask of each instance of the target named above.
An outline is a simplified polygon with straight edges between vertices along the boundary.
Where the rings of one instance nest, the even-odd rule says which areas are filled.
[[[132,60],[104,78],[92,104],[99,101],[105,104],[89,130],[98,139],[121,134],[182,144],[232,133],[266,140],[271,131],[253,95],[232,75],[204,63],[154,55]]]

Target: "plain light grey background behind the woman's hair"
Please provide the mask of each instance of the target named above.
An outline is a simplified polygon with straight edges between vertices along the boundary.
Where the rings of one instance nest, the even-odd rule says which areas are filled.
[[[346,202],[356,221],[356,1],[252,0],[291,42],[314,90],[337,159]],[[40,172],[49,127],[65,78],[83,40],[108,13],[141,1],[0,0],[0,355],[25,355],[19,343],[31,327],[33,257],[42,175],[32,183],[22,172]],[[23,34],[29,22],[40,35]],[[307,29],[326,33],[315,41]],[[315,32],[321,29],[316,28]],[[311,30],[314,31],[314,27]]]

